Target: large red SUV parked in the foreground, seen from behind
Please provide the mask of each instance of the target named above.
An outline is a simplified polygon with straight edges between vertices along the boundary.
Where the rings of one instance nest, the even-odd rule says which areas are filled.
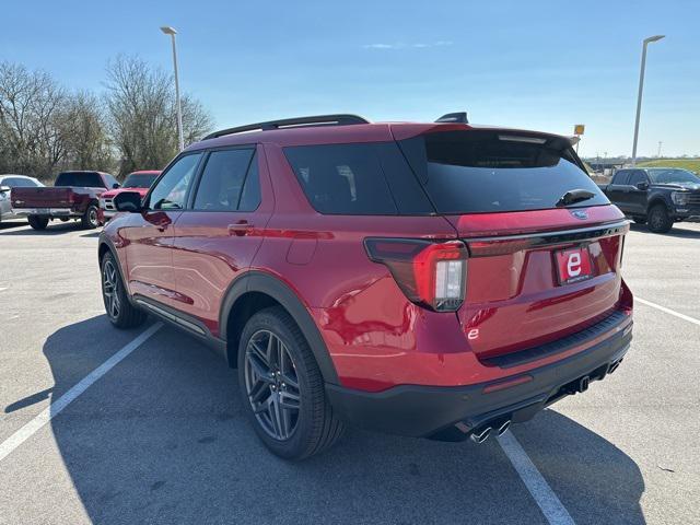
[[[482,442],[615,371],[628,222],[568,138],[352,115],[190,145],[100,240],[118,327],[147,313],[238,369],[265,444],[347,423]]]

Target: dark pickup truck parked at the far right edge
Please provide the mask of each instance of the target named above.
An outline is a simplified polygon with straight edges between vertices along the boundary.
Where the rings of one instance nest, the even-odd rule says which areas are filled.
[[[655,233],[675,222],[700,222],[700,177],[678,167],[619,170],[600,189],[622,212]]]

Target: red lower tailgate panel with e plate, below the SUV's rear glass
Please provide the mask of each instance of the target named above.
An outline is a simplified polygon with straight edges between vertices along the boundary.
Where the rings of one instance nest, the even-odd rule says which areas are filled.
[[[579,220],[563,209],[499,214],[488,221],[490,230],[500,226],[499,234],[487,235],[480,230],[483,215],[453,219],[469,249],[467,292],[457,315],[465,334],[477,336],[469,339],[480,358],[565,337],[619,306],[628,222],[612,206],[587,213],[595,218]],[[549,226],[523,233],[528,222]]]

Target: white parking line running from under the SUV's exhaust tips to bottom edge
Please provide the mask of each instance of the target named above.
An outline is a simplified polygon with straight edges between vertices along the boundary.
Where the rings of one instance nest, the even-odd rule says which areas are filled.
[[[513,432],[505,432],[498,440],[501,448],[505,452],[547,521],[551,525],[574,525],[569,511],[564,509],[555,491],[551,490],[542,475],[539,474],[539,470],[537,470],[533,460],[515,439]]]

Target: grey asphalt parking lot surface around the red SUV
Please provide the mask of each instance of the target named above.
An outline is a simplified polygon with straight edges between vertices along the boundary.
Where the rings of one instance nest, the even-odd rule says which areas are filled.
[[[700,523],[700,225],[633,226],[632,349],[585,395],[501,443],[351,430],[301,464],[266,452],[205,347],[112,328],[96,241],[0,226],[0,523]]]

